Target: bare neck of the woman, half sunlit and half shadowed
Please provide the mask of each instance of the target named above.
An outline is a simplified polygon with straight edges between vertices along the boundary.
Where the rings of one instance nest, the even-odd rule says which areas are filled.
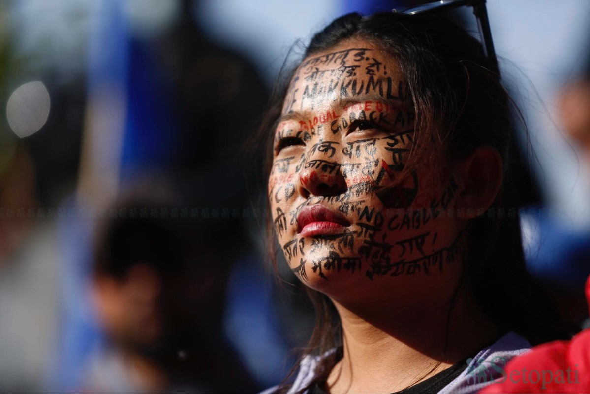
[[[473,356],[498,336],[467,294],[411,311],[351,311],[335,302],[342,321],[343,357],[332,369],[333,393],[391,393]]]

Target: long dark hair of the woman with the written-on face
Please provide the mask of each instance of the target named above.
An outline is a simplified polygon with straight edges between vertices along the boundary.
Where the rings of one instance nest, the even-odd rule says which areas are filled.
[[[421,131],[415,138],[432,139],[453,158],[491,145],[503,159],[505,175],[496,200],[470,224],[469,255],[462,280],[481,310],[500,332],[515,331],[533,344],[568,337],[573,331],[562,323],[550,298],[525,269],[518,188],[511,179],[514,171],[519,171],[513,159],[519,149],[513,144],[513,120],[520,113],[500,76],[488,69],[481,44],[441,17],[391,12],[369,17],[348,14],[314,35],[303,58],[352,38],[374,43],[397,60],[417,115],[416,129]],[[270,128],[280,116],[293,75],[294,70],[277,84],[261,127],[269,140],[269,158]],[[419,140],[415,145],[420,145]],[[270,160],[268,168],[270,172]],[[276,245],[273,226],[268,229],[270,245]],[[307,292],[317,318],[306,354],[324,354],[339,347],[340,322],[325,295],[309,288]],[[310,385],[326,380],[337,357],[332,353],[322,359]],[[279,390],[286,388],[283,385]]]

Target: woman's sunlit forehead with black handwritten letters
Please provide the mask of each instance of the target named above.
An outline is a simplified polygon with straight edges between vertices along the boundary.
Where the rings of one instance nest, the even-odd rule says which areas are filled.
[[[303,60],[291,80],[283,114],[371,96],[399,106],[407,99],[407,84],[394,57],[375,44],[350,40]]]

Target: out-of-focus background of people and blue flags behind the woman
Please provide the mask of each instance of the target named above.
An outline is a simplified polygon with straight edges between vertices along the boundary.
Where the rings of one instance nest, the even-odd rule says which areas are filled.
[[[280,382],[313,314],[267,262],[262,162],[244,143],[297,43],[421,2],[0,0],[0,392]],[[523,133],[529,270],[581,322],[590,3],[487,8],[536,152]]]

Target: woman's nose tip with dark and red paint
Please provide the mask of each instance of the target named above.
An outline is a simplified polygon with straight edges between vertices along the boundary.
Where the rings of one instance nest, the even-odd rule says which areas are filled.
[[[337,196],[346,191],[346,180],[339,162],[311,157],[299,172],[299,193],[304,198]]]

